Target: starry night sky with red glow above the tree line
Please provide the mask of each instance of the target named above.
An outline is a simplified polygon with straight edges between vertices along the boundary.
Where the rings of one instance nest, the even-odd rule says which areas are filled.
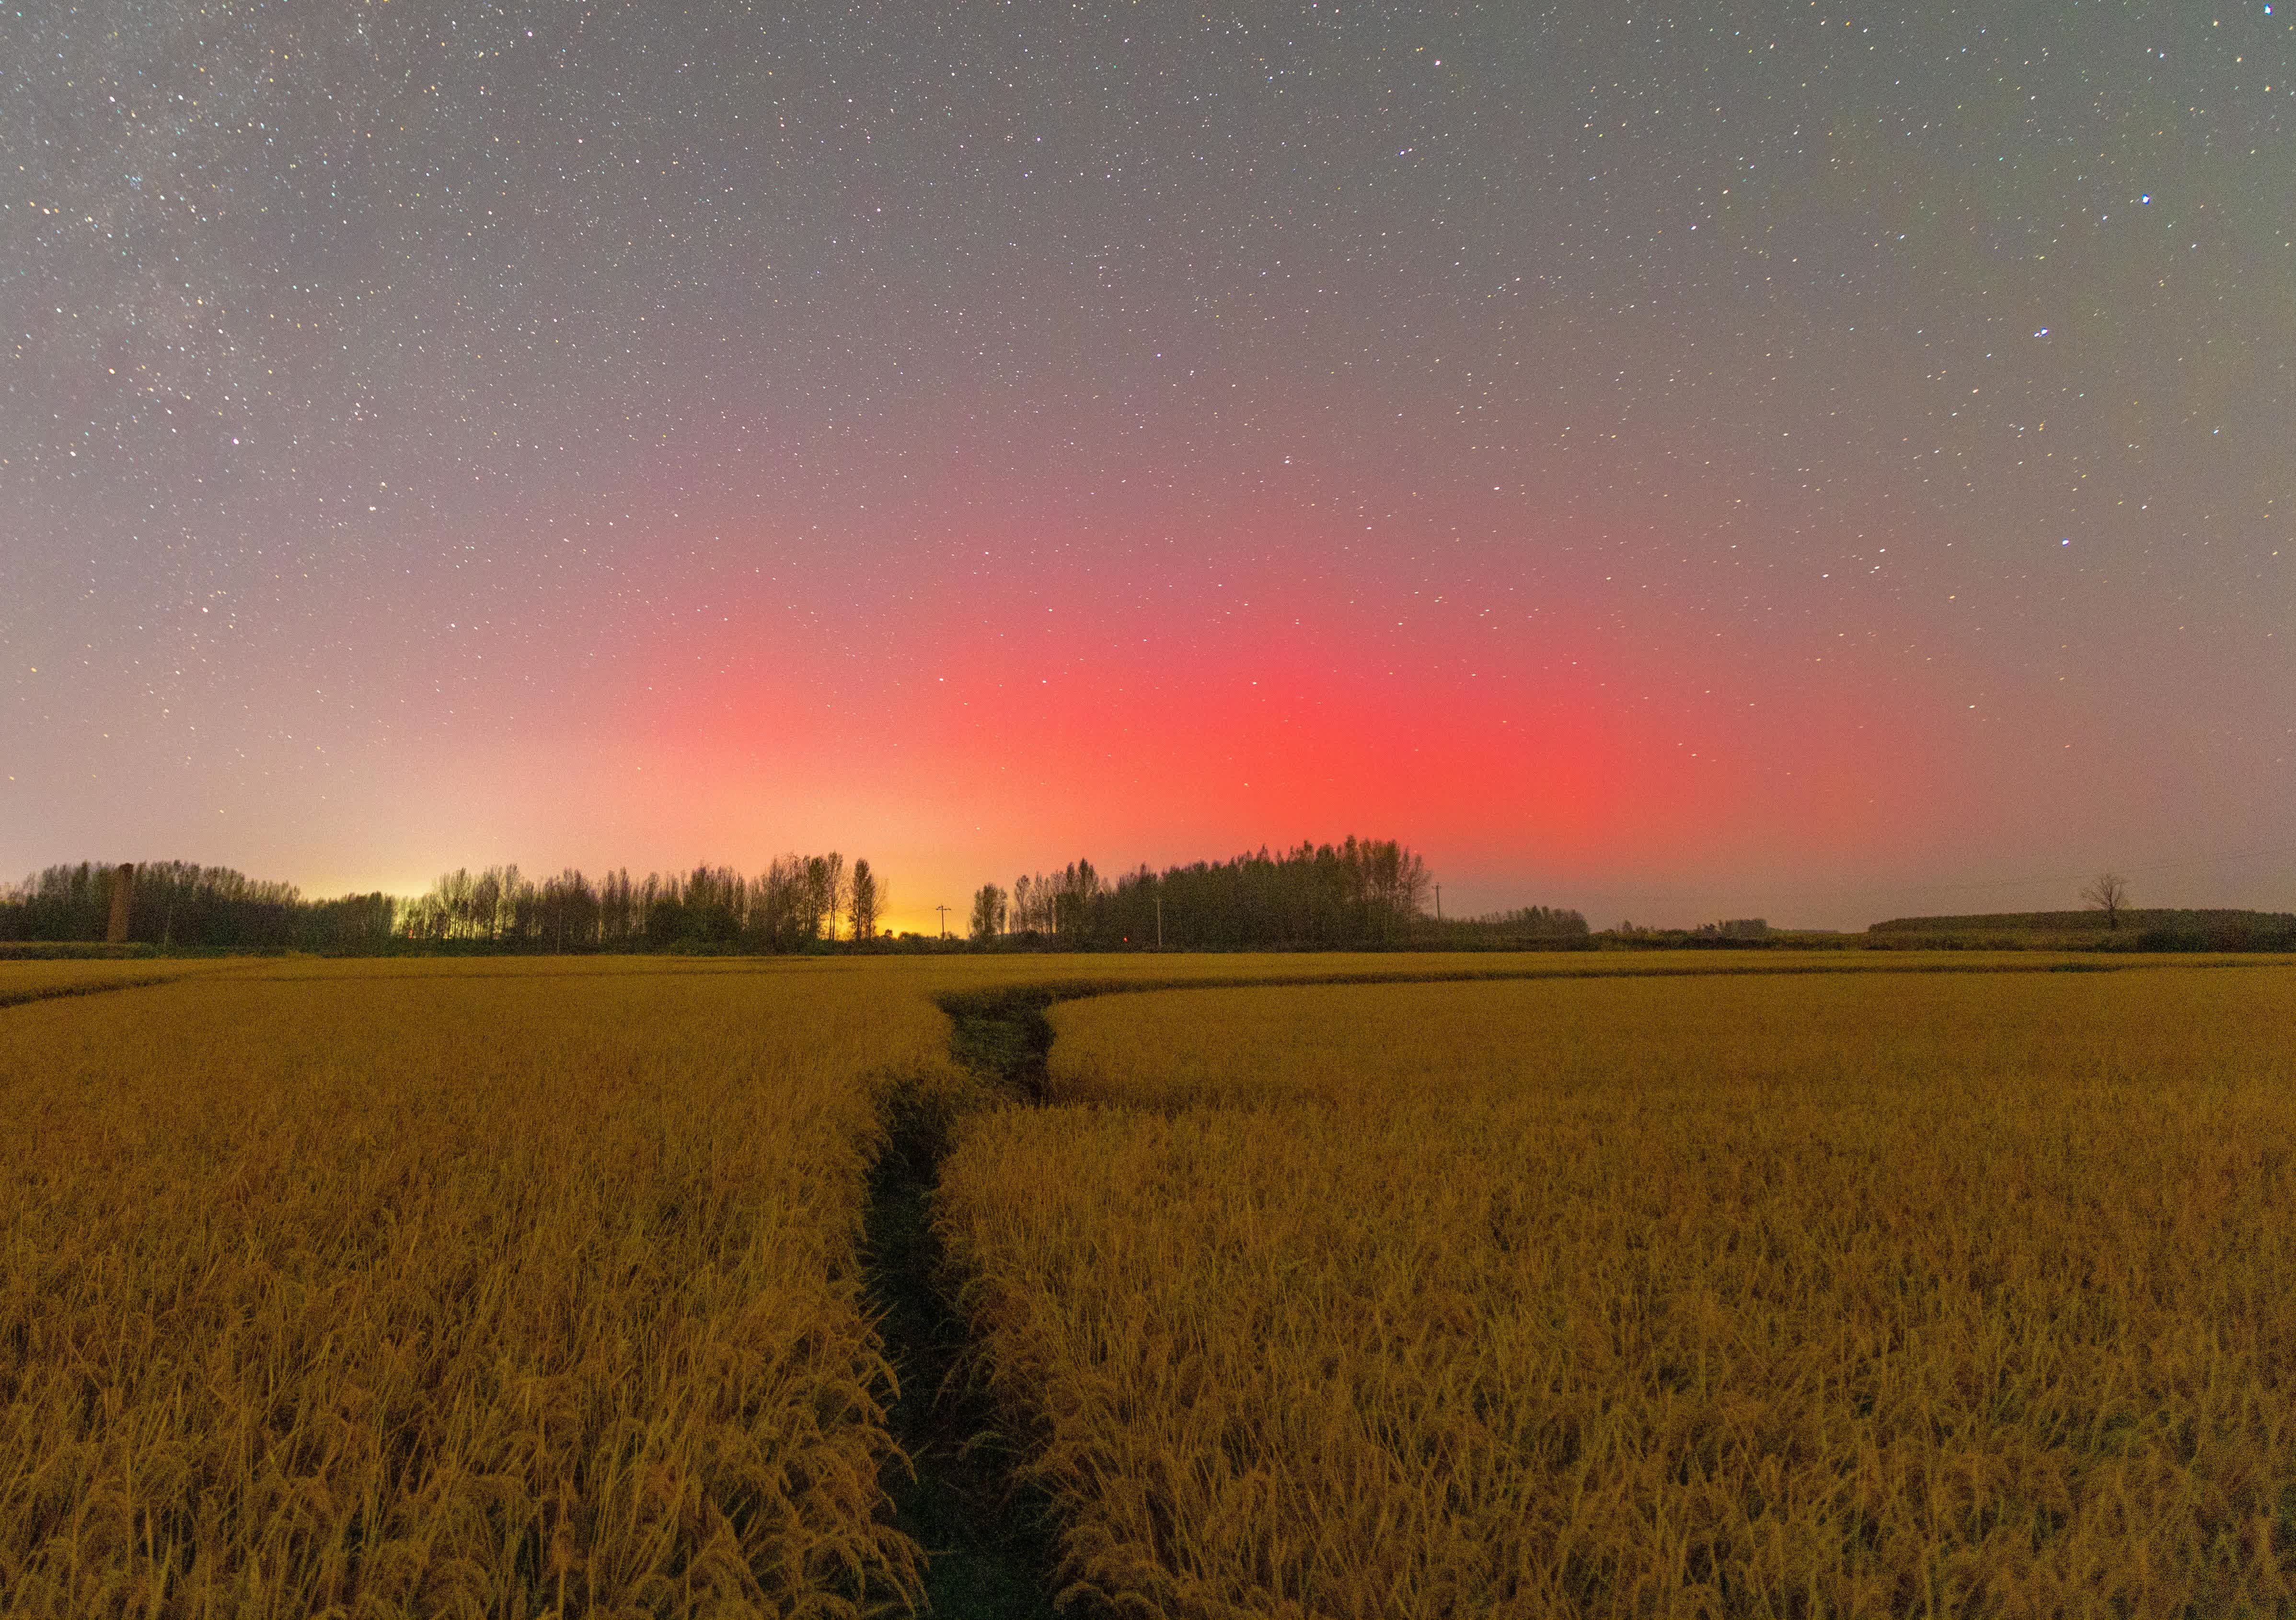
[[[2296,908],[2296,0],[0,11],[0,871]]]

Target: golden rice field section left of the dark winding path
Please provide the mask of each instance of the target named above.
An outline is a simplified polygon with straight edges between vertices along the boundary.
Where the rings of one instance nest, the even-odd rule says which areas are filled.
[[[0,1013],[0,1613],[898,1604],[856,1243],[944,1041],[806,963]]]

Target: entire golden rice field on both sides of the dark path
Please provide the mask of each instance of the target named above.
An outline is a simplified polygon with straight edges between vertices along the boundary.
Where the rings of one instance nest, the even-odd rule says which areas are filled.
[[[2094,965],[0,963],[0,1615],[916,1613],[914,1089],[1072,1613],[2296,1615],[2296,965]]]

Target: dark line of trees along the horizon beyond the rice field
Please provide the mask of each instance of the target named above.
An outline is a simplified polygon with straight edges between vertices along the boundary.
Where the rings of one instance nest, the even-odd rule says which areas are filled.
[[[101,940],[117,869],[51,866],[0,887],[0,940]],[[1153,871],[1102,875],[1075,859],[983,885],[971,901],[976,949],[1350,951],[1506,949],[1589,942],[1575,910],[1527,905],[1486,917],[1428,917],[1433,875],[1398,839],[1302,841]],[[519,866],[457,869],[418,898],[349,894],[308,901],[292,882],[227,866],[135,869],[129,940],[179,949],[305,951],[804,951],[884,938],[891,905],[870,862],[781,855],[760,873]],[[902,935],[895,949],[946,949]],[[957,944],[955,949],[964,949]]]

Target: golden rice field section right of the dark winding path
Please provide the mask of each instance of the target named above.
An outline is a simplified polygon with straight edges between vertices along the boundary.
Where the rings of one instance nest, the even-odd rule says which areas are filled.
[[[939,1218],[1084,1595],[2296,1613],[2289,965],[1054,1025],[1061,1105],[976,1117]]]

